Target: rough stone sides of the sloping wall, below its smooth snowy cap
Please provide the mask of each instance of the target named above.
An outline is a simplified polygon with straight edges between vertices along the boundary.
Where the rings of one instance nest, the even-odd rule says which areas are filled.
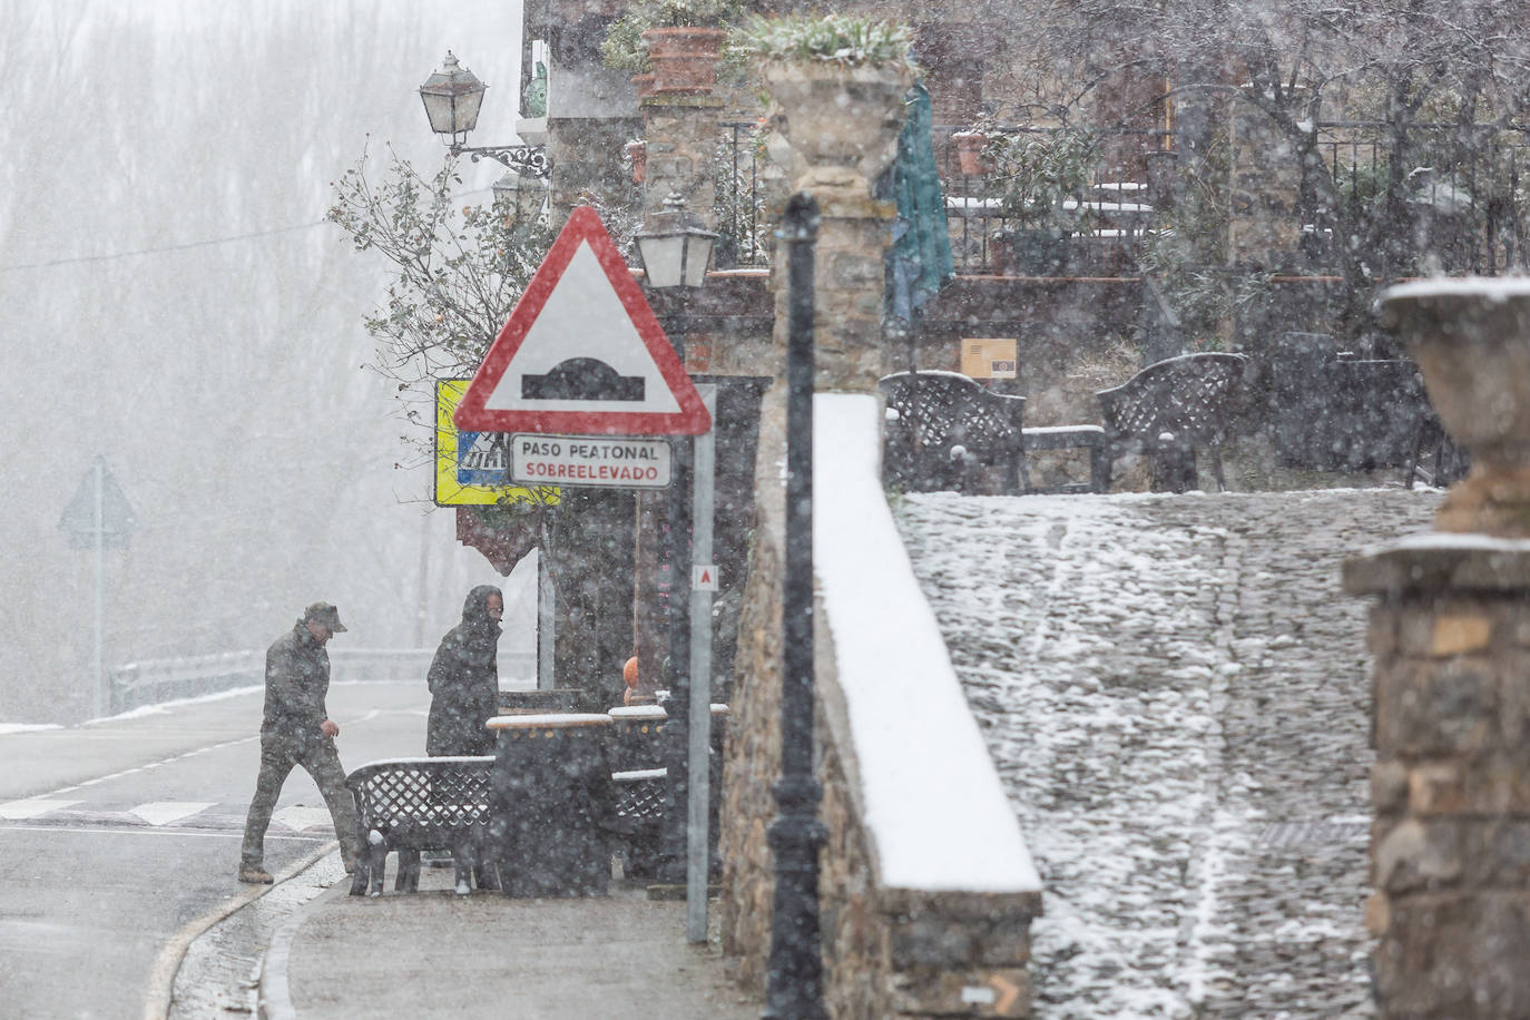
[[[724,951],[747,988],[763,991],[771,944],[773,859],[780,763],[780,619],[783,399],[767,396],[757,463],[757,528],[734,662],[721,853]],[[890,888],[877,836],[864,824],[860,759],[838,681],[838,651],[815,607],[815,762],[823,784],[820,855],[825,1003],[837,1020],[1030,1015],[1030,921],[1039,893]]]

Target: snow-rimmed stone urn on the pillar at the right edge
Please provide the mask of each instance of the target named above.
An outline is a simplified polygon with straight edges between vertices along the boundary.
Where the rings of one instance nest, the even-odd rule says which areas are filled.
[[[1530,538],[1530,280],[1405,283],[1382,295],[1382,320],[1472,459],[1435,528]]]

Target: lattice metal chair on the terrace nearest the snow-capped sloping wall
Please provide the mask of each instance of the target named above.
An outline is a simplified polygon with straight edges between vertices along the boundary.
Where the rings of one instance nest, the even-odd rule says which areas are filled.
[[[999,468],[1004,494],[1021,492],[1024,396],[993,393],[958,372],[897,372],[883,376],[881,391],[884,485],[975,492],[981,469]]]

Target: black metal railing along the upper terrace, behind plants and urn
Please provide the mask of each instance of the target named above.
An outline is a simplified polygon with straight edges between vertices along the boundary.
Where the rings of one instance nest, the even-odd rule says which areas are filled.
[[[756,122],[725,122],[718,142],[716,194],[718,268],[770,265],[765,154]],[[1019,265],[1016,239],[1025,223],[999,213],[998,182],[985,174],[964,174],[952,125],[933,128],[935,161],[946,196],[952,257],[964,275],[1137,275],[1143,234],[1152,229],[1148,202],[1154,153],[1174,150],[1174,135],[1163,130],[1106,133],[1102,159],[1088,188],[1089,228],[1060,239],[1050,257]],[[1042,132],[1002,125],[1002,132]],[[1398,217],[1398,210],[1375,208],[1389,167],[1403,161],[1409,182],[1401,220],[1382,229],[1389,245],[1377,252],[1375,275],[1397,277],[1441,272],[1501,274],[1524,268],[1530,249],[1530,197],[1521,194],[1521,171],[1530,165],[1530,128],[1483,130],[1463,145],[1454,125],[1423,124],[1409,128],[1408,144],[1394,153],[1388,125],[1333,121],[1316,128],[1316,150],[1348,203],[1349,223],[1366,217]],[[1314,196],[1300,202],[1304,257],[1308,271],[1336,272],[1331,251],[1337,220]],[[1427,265],[1426,265],[1427,260]]]

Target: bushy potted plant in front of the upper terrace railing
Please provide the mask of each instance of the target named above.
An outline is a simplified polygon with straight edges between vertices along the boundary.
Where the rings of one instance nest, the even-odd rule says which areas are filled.
[[[1062,242],[1089,229],[1089,177],[1100,158],[1100,139],[1083,127],[1047,132],[991,133],[982,151],[988,161],[988,193],[999,216],[1017,223],[993,240],[1001,260],[1021,272],[1062,269]]]

